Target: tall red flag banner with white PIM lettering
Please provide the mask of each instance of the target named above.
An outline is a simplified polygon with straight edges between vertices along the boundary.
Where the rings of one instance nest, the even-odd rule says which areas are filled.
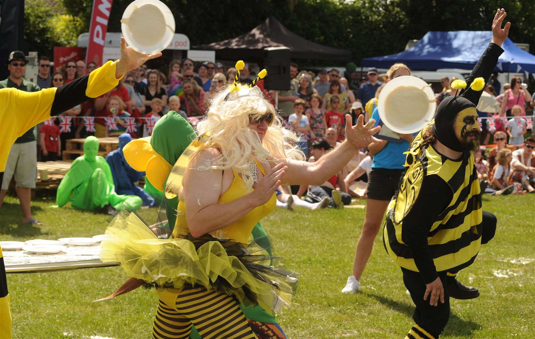
[[[102,52],[104,39],[108,30],[111,3],[113,0],[94,0],[91,11],[91,26],[89,26],[89,43],[87,45],[86,65],[93,61],[97,67],[102,66]]]

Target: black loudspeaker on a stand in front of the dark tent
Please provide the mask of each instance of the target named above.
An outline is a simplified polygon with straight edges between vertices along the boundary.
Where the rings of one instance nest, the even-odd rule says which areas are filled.
[[[268,47],[264,49],[264,68],[268,75],[264,78],[266,90],[287,91],[290,89],[290,49],[288,47]],[[279,104],[275,92],[275,104]]]

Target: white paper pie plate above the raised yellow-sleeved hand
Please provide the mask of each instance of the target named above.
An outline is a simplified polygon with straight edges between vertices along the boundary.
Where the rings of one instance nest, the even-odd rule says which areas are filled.
[[[149,25],[148,27],[144,27]],[[121,19],[126,43],[135,51],[154,54],[169,46],[174,36],[174,17],[158,0],[136,0],[126,7]]]

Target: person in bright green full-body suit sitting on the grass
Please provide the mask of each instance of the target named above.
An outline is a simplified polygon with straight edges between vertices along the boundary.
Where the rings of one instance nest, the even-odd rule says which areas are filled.
[[[94,210],[107,204],[120,210],[126,203],[139,210],[142,200],[135,195],[115,193],[110,165],[98,154],[98,139],[90,136],[83,143],[83,155],[72,162],[71,169],[59,184],[56,202],[64,206],[71,201],[77,209]]]

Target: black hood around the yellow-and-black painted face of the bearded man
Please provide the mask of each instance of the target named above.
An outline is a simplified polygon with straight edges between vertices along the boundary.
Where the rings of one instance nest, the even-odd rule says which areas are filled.
[[[468,92],[475,91],[468,90]],[[480,92],[479,95],[481,95]],[[479,101],[479,97],[477,100]],[[463,146],[461,145],[461,141],[459,141],[455,135],[453,121],[457,113],[469,107],[475,108],[476,105],[463,96],[449,96],[440,102],[434,116],[433,133],[435,137],[446,147],[453,149],[456,152],[462,152]]]

